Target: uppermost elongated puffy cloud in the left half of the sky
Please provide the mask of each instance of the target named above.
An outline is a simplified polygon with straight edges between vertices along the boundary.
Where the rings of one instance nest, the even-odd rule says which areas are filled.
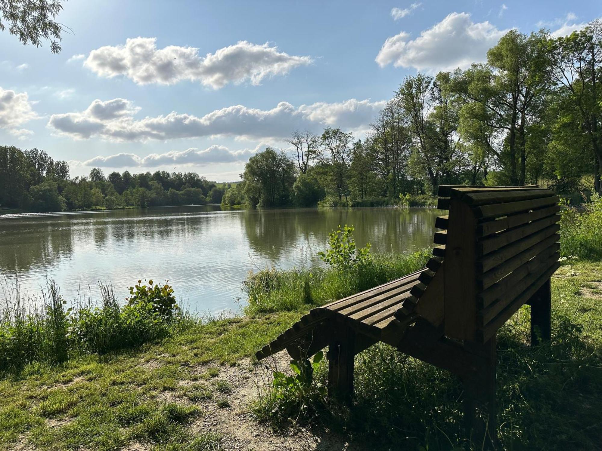
[[[158,49],[157,38],[137,37],[126,40],[125,45],[93,50],[84,66],[99,76],[123,75],[137,84],[169,85],[189,80],[219,89],[228,83],[245,81],[256,85],[266,77],[286,75],[291,69],[310,63],[309,57],[289,55],[267,43],[239,41],[202,57],[194,47]]]

